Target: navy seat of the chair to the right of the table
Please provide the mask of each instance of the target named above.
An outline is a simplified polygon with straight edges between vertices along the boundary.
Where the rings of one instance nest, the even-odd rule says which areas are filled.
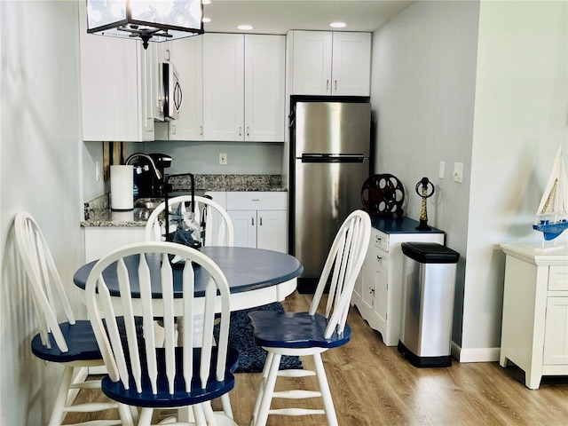
[[[256,343],[272,348],[335,348],[351,340],[351,328],[345,325],[343,333],[336,332],[325,339],[327,319],[308,312],[249,312]]]

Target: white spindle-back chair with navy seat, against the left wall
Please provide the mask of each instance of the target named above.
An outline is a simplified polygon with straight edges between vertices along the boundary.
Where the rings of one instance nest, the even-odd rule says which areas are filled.
[[[115,402],[73,405],[79,390],[100,389],[100,380],[85,381],[89,367],[104,365],[99,345],[89,320],[75,319],[51,251],[36,220],[27,212],[20,212],[15,217],[14,227],[16,245],[31,286],[39,325],[39,333],[32,339],[32,352],[39,359],[64,367],[49,425],[60,425],[70,412],[88,413],[114,408],[119,409],[122,419],[129,418],[128,408]],[[58,322],[58,306],[65,313],[67,321]],[[122,422],[106,420],[89,424]]]

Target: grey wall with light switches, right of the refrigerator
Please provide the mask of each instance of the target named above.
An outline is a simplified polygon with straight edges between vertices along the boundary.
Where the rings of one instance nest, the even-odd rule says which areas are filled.
[[[406,191],[406,216],[420,218],[415,185],[428,177],[428,223],[446,232],[461,254],[454,342],[461,342],[461,304],[468,241],[471,141],[477,56],[477,2],[420,2],[373,38],[371,102],[375,109],[375,173],[390,173]],[[443,178],[438,175],[445,162]],[[455,183],[454,162],[464,163]]]

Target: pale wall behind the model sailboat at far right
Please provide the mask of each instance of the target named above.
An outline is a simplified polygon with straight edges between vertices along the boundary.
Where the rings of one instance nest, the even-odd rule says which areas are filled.
[[[481,2],[465,358],[470,350],[475,358],[478,348],[500,346],[504,256],[499,244],[541,241],[532,225],[558,144],[564,162],[568,158],[567,64],[567,2]]]

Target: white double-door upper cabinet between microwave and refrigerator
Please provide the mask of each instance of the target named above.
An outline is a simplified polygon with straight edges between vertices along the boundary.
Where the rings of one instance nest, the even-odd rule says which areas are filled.
[[[282,142],[285,37],[203,35],[203,139]]]

